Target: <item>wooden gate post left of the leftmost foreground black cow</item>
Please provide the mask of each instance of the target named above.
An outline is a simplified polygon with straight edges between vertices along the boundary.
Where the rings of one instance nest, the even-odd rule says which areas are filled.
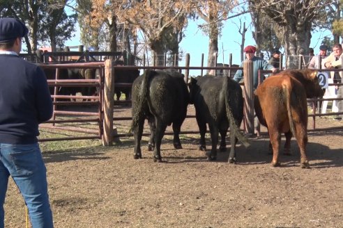
[[[112,77],[112,60],[105,60],[105,83],[104,83],[104,122],[102,145],[112,146],[113,143],[113,97],[114,79]]]

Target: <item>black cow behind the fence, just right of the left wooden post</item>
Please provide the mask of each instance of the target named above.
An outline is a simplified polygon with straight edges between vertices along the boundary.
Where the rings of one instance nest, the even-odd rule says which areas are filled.
[[[133,83],[139,76],[139,70],[137,69],[115,69],[114,70],[114,83]],[[131,87],[117,87],[114,85],[114,93],[116,94],[116,100],[119,101],[121,92],[125,94],[125,100],[131,99]]]

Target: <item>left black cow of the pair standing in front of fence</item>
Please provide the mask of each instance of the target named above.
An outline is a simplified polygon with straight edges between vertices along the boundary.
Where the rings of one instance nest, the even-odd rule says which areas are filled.
[[[179,133],[185,120],[189,92],[183,74],[171,71],[146,70],[132,84],[132,125],[135,138],[134,158],[142,158],[140,142],[144,120],[151,129],[150,149],[154,161],[162,161],[160,145],[167,126],[174,131],[173,144],[182,148]]]

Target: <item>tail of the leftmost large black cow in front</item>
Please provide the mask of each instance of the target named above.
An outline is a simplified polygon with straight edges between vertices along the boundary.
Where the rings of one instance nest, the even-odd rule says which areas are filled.
[[[145,118],[144,107],[148,104],[148,86],[152,74],[153,72],[151,72],[151,70],[146,70],[143,74],[143,80],[139,89],[139,101],[135,103],[136,112],[132,115],[130,132],[132,132],[132,130],[138,126],[139,122]]]

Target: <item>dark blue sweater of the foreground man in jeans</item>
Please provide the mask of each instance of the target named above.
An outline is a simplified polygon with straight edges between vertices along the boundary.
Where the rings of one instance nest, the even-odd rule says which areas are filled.
[[[19,56],[0,54],[0,142],[37,142],[38,124],[52,117],[43,70]]]

